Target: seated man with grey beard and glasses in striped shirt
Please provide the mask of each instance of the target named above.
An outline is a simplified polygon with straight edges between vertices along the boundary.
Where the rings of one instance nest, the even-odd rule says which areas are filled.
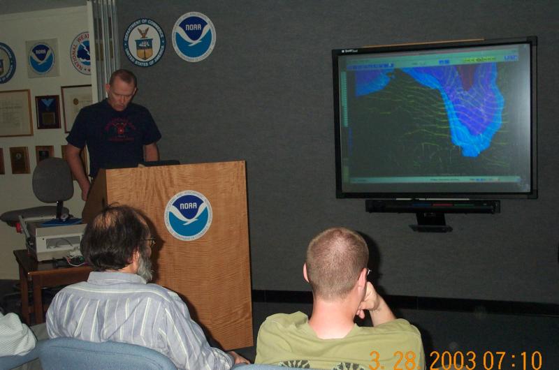
[[[87,225],[80,245],[94,269],[89,279],[60,290],[47,313],[50,338],[117,341],[152,348],[179,369],[231,369],[248,363],[212,348],[171,290],[148,284],[155,239],[131,207],[108,207]]]

